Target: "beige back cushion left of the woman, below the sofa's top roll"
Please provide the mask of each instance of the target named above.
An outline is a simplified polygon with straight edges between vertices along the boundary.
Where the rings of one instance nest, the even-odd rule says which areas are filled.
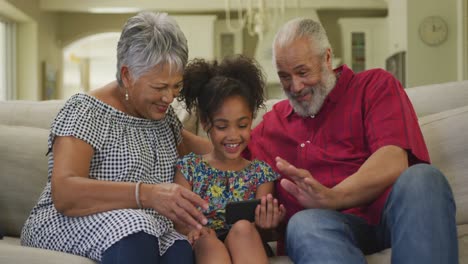
[[[0,227],[19,236],[47,181],[47,129],[0,125]]]

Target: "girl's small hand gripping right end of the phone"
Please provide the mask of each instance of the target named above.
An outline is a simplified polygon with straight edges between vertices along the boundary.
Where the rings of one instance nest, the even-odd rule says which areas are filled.
[[[267,194],[261,198],[261,202],[255,209],[255,225],[261,229],[276,228],[286,215],[283,205],[278,205],[278,200],[273,195]]]

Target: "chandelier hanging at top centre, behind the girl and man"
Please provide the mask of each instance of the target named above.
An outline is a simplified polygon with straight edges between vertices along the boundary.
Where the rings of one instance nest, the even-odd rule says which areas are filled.
[[[296,7],[298,7],[298,1]],[[226,27],[234,32],[247,29],[251,36],[257,35],[259,39],[270,28],[275,28],[278,21],[282,21],[286,10],[286,0],[224,0],[226,12]],[[235,2],[236,6],[232,7]],[[289,0],[289,2],[292,2]],[[231,20],[231,12],[237,11],[237,23]]]

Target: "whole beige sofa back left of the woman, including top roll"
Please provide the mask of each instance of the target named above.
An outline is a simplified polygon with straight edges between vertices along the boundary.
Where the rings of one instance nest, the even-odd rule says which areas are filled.
[[[62,100],[0,102],[0,227],[20,235],[47,181],[47,137]]]

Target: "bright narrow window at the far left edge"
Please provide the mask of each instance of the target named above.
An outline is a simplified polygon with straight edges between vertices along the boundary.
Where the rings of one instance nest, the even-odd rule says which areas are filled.
[[[16,99],[16,26],[0,19],[0,100]]]

